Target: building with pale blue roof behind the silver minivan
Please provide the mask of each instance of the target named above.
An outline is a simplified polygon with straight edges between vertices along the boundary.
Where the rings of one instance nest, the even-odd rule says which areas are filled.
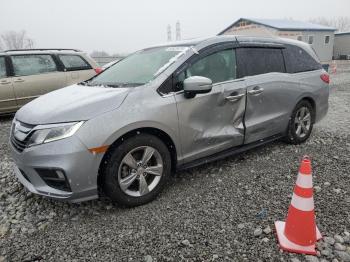
[[[283,19],[240,18],[219,35],[285,37],[309,43],[320,60],[332,60],[334,31],[328,26]]]

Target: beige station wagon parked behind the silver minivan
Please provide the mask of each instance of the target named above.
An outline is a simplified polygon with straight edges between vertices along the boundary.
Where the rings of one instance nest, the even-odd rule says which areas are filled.
[[[85,81],[98,72],[92,58],[73,49],[0,52],[0,114],[15,112],[40,95]]]

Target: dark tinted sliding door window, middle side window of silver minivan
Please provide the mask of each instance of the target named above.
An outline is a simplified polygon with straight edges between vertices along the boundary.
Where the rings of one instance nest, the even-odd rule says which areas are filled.
[[[239,77],[285,72],[281,49],[239,48],[237,49]]]

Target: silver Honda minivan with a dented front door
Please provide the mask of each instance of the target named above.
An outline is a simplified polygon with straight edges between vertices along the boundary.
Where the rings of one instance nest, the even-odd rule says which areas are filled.
[[[154,199],[171,174],[284,139],[328,110],[329,76],[305,43],[217,36],[138,51],[22,107],[10,142],[30,191],[72,202]]]

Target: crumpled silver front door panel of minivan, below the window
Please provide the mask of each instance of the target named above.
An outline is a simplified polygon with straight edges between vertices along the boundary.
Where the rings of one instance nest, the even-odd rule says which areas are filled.
[[[237,101],[226,99],[239,94],[243,96]],[[191,99],[183,93],[175,96],[184,162],[243,144],[245,95],[244,81],[235,80]]]

